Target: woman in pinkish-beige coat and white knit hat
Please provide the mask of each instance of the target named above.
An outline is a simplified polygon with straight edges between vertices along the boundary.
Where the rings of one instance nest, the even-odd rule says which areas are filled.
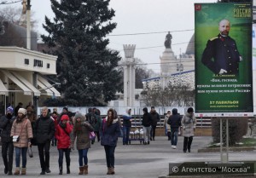
[[[12,125],[10,136],[14,137],[16,135],[19,136],[19,139],[14,141],[16,164],[15,175],[20,175],[20,155],[22,157],[21,175],[26,175],[26,152],[27,147],[32,146],[31,139],[33,134],[30,120],[26,118],[26,109],[24,108],[18,110],[18,116]]]

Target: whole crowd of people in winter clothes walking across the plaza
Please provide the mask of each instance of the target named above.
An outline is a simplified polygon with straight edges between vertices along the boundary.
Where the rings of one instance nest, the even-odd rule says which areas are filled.
[[[115,174],[115,147],[121,134],[123,135],[123,145],[128,145],[132,122],[131,108],[127,108],[123,115],[123,122],[121,122],[114,109],[108,109],[107,117],[102,119],[100,110],[96,108],[89,108],[88,113],[83,115],[80,112],[69,112],[67,107],[63,107],[61,114],[58,114],[56,109],[50,113],[49,109],[44,106],[38,118],[31,104],[26,108],[22,106],[22,103],[19,103],[15,109],[9,106],[6,114],[0,118],[5,174],[26,175],[26,152],[31,146],[38,146],[40,175],[51,172],[49,169],[50,146],[57,146],[59,152],[59,175],[63,174],[64,155],[67,174],[70,174],[70,152],[76,145],[79,155],[79,175],[87,175],[87,155],[91,144],[94,144],[95,141],[101,142],[104,147],[108,167],[107,175]],[[193,112],[193,108],[189,107],[183,118],[177,113],[176,108],[172,109],[172,112],[167,112],[164,124],[172,148],[176,149],[177,135],[182,126],[183,152],[190,152],[196,123]],[[144,145],[155,141],[155,129],[158,122],[160,122],[160,115],[155,111],[154,106],[151,107],[150,112],[147,107],[144,107],[142,119]],[[13,173],[14,152],[15,172]]]

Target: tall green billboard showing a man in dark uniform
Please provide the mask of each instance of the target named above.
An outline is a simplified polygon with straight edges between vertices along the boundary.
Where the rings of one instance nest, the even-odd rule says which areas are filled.
[[[252,4],[195,3],[195,112],[253,115]]]

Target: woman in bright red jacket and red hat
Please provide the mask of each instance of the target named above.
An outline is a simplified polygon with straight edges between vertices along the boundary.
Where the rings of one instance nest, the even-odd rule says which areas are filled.
[[[70,174],[70,133],[73,130],[73,125],[69,123],[67,115],[61,116],[61,122],[56,127],[55,138],[57,140],[57,148],[59,151],[59,168],[62,175],[63,168],[63,153],[67,163],[67,174]]]

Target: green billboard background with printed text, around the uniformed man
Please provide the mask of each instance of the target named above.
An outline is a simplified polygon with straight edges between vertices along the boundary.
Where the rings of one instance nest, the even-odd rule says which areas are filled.
[[[195,3],[195,112],[253,112],[252,11],[250,17],[235,15],[235,9],[251,8],[250,3]],[[230,20],[229,36],[242,56],[238,75],[215,75],[201,62],[223,19]]]

